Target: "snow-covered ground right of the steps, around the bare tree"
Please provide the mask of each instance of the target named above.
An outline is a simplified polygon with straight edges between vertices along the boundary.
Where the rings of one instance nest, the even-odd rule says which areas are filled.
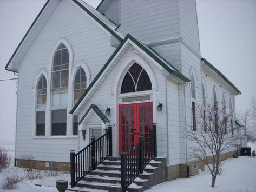
[[[256,151],[256,143],[248,143],[248,146],[251,147],[251,151]],[[147,192],[256,191],[256,157],[239,156],[238,158],[229,158],[225,161],[224,167],[223,173],[216,178],[214,188],[211,187],[211,173],[205,167],[205,171],[202,171],[200,175],[161,183],[147,190]]]

